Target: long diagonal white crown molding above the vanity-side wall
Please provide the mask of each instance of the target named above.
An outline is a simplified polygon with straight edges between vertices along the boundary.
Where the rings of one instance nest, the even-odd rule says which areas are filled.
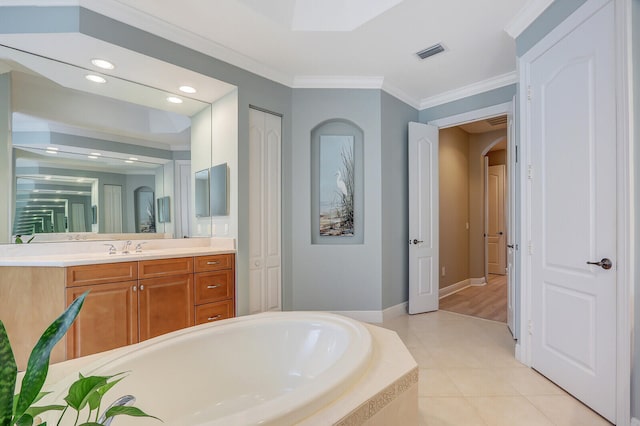
[[[121,0],[71,0],[69,4],[78,4],[93,12],[108,16],[266,79],[291,87],[292,76],[275,70],[214,40],[148,15]]]

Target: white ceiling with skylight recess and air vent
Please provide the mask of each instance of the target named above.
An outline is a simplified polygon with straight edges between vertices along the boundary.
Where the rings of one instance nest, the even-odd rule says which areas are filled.
[[[514,82],[515,42],[504,28],[527,0],[80,3],[292,87],[360,81],[363,87],[378,84],[421,106],[487,80]],[[354,3],[366,5],[354,8]],[[333,28],[327,16],[335,17]],[[424,61],[415,56],[435,43],[446,51]]]

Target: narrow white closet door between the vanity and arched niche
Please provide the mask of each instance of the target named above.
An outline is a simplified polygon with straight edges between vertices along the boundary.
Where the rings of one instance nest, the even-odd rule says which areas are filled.
[[[249,110],[249,312],[282,310],[282,119]]]

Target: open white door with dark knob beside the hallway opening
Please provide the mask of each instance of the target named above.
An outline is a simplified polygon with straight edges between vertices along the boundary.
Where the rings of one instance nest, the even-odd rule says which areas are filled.
[[[409,313],[438,309],[438,128],[409,123]]]

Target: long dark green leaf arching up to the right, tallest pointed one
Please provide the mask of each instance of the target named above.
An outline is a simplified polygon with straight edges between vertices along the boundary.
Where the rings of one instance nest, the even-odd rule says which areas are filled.
[[[78,316],[87,293],[88,292],[83,293],[79,298],[74,300],[62,315],[51,323],[40,337],[40,340],[38,340],[38,343],[36,343],[33,351],[31,351],[29,362],[27,363],[27,371],[22,379],[20,397],[18,398],[18,405],[16,406],[16,418],[22,417],[40,393],[44,380],[47,377],[47,372],[49,371],[51,350],[62,336],[64,336]]]

